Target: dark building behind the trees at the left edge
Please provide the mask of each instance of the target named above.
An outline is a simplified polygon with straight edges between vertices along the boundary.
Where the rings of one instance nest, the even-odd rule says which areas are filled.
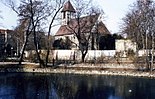
[[[44,32],[37,32],[37,46],[39,49],[46,49],[46,38]],[[24,32],[17,33],[14,30],[0,29],[0,56],[19,56],[23,43]],[[28,38],[25,50],[35,50],[33,33]]]

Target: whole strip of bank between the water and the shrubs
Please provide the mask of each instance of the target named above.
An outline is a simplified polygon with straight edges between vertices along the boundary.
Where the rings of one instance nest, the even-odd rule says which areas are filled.
[[[112,64],[111,66],[115,66],[115,65]],[[6,64],[0,64],[0,72],[70,73],[70,74],[86,74],[86,75],[119,75],[119,76],[155,78],[154,71],[144,72],[144,71],[139,71],[137,69],[120,68],[120,67],[108,68],[108,64],[96,64],[96,65],[95,64],[74,64],[74,65],[61,64],[59,66],[49,65],[49,67],[47,68],[40,68],[38,64],[34,64],[34,63],[25,63],[22,65],[18,65],[16,63],[6,63]]]

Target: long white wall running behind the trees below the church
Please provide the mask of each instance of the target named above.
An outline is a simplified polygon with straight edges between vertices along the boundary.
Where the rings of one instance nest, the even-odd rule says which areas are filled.
[[[88,50],[85,60],[95,60],[100,57],[114,57],[116,50]],[[35,53],[32,51],[25,51],[25,57],[29,57]],[[46,53],[42,50],[42,53]],[[155,54],[155,53],[154,53]],[[139,50],[138,56],[146,55],[146,50]],[[52,50],[50,57],[59,60],[81,60],[81,52],[79,50]]]

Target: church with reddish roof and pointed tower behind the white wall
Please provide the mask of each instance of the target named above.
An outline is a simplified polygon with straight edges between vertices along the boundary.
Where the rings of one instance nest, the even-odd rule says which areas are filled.
[[[78,49],[78,39],[75,35],[78,28],[80,28],[80,33],[90,35],[89,50],[99,49],[98,42],[100,37],[110,34],[109,30],[102,22],[100,14],[92,14],[80,17],[79,19],[74,18],[76,10],[72,6],[70,0],[64,4],[61,13],[62,24],[55,34],[55,41],[69,39],[72,42],[71,49]]]

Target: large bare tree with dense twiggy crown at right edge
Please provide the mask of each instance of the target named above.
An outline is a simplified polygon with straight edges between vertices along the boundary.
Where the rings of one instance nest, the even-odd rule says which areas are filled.
[[[154,53],[154,10],[153,1],[138,0],[134,4],[131,12],[129,12],[124,18],[123,24],[123,32],[127,34],[128,38],[132,39],[138,44],[137,49],[145,50],[146,64],[150,70],[152,70],[153,66],[150,64],[151,60],[153,64],[153,56],[152,58],[148,56],[151,53]],[[149,50],[151,48],[152,52]]]

